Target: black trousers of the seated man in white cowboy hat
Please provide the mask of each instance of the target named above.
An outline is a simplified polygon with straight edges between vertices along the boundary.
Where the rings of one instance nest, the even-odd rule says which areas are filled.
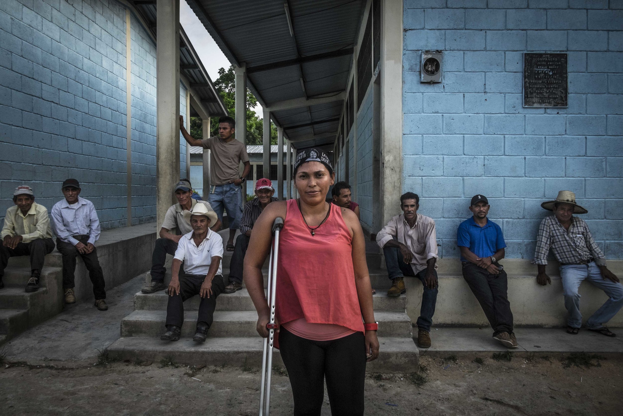
[[[184,323],[184,301],[199,294],[204,279],[206,279],[206,276],[196,276],[180,271],[179,294],[169,296],[169,302],[166,306],[166,325],[182,327]],[[210,297],[202,297],[201,302],[199,302],[197,324],[205,322],[208,328],[212,326],[214,309],[216,309],[216,297],[222,293],[223,289],[225,289],[223,276],[222,274],[217,274],[212,279],[212,294]]]

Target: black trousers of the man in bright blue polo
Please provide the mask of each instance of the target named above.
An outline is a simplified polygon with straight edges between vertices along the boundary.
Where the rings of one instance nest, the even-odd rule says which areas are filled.
[[[496,266],[499,264],[496,263]],[[506,271],[489,274],[476,264],[463,262],[463,278],[472,289],[485,316],[493,328],[493,336],[500,332],[513,332],[513,312],[508,302]]]

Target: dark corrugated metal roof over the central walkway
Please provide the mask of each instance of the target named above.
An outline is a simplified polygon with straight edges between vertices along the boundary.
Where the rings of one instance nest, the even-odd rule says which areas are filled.
[[[271,113],[295,147],[335,140],[365,0],[186,1],[262,106],[336,97]]]

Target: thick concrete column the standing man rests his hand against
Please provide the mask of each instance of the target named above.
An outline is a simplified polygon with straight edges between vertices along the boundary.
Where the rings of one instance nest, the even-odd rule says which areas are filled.
[[[173,205],[179,180],[179,0],[156,2],[156,221]]]

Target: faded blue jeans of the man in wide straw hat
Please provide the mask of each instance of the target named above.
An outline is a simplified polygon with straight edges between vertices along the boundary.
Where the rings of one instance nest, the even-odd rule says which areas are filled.
[[[606,292],[609,299],[586,321],[589,329],[599,329],[623,306],[623,284],[614,283],[601,276],[601,270],[592,261],[589,264],[563,264],[560,266],[560,277],[563,280],[564,307],[569,311],[567,325],[579,328],[582,326],[580,313],[580,295],[578,288],[584,279]]]

